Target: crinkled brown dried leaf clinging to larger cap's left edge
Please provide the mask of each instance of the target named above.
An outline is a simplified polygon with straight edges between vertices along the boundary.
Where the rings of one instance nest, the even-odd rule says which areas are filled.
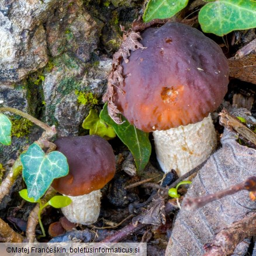
[[[122,29],[122,27],[121,27]],[[115,90],[122,90],[123,87],[123,68],[120,65],[122,60],[126,63],[129,62],[130,51],[135,51],[137,49],[144,49],[143,45],[139,42],[141,39],[139,32],[134,32],[129,30],[123,34],[123,43],[120,49],[113,55],[112,71],[108,77],[108,89],[106,94],[103,95],[103,102],[108,101],[108,112],[109,116],[117,124],[123,123],[120,119],[120,111],[117,106],[113,103],[112,98],[115,94]],[[123,92],[124,93],[124,92]]]

